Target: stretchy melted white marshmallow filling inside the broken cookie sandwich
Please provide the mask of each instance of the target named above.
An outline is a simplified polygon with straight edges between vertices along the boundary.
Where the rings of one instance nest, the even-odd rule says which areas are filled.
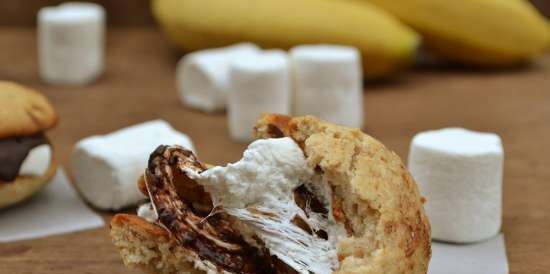
[[[292,139],[254,141],[240,161],[188,175],[212,195],[215,206],[248,224],[272,255],[299,273],[329,274],[338,268],[336,242],[346,235],[345,229],[332,217],[327,182],[322,182],[327,193],[321,195],[327,201],[329,214],[306,214],[296,204],[293,193],[298,186],[319,185],[321,182],[315,180],[322,179],[315,175]],[[308,188],[314,191],[319,187]],[[296,226],[292,222],[296,216],[313,231],[326,231],[328,240]]]

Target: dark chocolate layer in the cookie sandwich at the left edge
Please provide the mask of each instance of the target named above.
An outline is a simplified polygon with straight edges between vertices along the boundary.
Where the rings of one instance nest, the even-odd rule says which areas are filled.
[[[31,149],[48,144],[44,133],[0,139],[0,181],[12,182]]]

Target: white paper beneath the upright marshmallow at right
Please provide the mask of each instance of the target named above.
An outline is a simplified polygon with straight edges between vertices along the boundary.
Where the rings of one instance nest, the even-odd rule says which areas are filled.
[[[503,235],[476,244],[433,242],[428,274],[508,274]]]

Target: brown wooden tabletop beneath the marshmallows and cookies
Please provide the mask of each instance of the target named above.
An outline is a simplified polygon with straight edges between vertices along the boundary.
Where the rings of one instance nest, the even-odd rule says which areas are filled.
[[[156,118],[189,134],[206,162],[236,160],[245,147],[228,139],[223,114],[181,106],[174,87],[178,56],[155,30],[111,31],[106,73],[86,87],[40,82],[32,30],[0,28],[0,53],[0,78],[44,91],[59,111],[61,123],[49,136],[69,171],[77,140]],[[462,126],[498,133],[506,151],[503,230],[511,273],[550,271],[550,56],[510,71],[424,67],[367,84],[365,121],[366,132],[404,159],[421,130]],[[132,272],[105,227],[0,244],[0,274],[13,273]]]

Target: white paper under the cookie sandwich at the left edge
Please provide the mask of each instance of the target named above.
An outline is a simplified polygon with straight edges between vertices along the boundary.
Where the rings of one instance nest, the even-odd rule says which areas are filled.
[[[102,227],[103,218],[80,199],[60,168],[30,200],[0,210],[0,242],[11,242]]]

